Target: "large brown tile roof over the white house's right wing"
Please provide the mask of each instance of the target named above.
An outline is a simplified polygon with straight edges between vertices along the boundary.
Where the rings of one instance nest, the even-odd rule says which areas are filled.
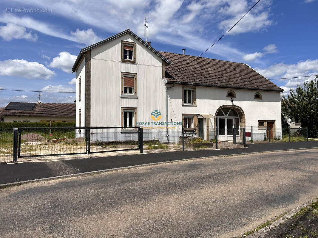
[[[172,64],[166,66],[166,79],[177,84],[220,88],[284,91],[244,63],[159,51]],[[190,63],[189,65],[186,65]],[[180,69],[186,65],[184,68]],[[177,71],[180,69],[180,71]]]

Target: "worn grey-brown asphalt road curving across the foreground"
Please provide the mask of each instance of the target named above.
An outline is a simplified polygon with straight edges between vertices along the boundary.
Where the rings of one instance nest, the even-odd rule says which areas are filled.
[[[318,150],[198,159],[0,191],[0,237],[232,237],[318,195]]]

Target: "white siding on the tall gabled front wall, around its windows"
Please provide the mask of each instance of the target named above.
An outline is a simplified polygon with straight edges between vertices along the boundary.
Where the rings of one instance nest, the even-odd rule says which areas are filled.
[[[121,62],[121,41],[136,43],[136,64]],[[138,98],[121,98],[121,72],[137,74]],[[162,59],[129,34],[91,50],[91,125],[120,126],[121,107],[137,108],[137,121],[165,115]]]

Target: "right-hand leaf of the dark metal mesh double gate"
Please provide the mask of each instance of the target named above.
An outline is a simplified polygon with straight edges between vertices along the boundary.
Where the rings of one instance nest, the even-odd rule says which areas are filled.
[[[88,134],[90,154],[140,149],[139,127],[92,127]]]

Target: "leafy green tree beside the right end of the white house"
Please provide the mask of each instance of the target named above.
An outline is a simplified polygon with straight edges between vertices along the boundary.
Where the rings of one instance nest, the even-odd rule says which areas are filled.
[[[281,97],[281,109],[289,119],[298,118],[301,127],[308,127],[310,137],[318,137],[318,76],[303,87],[290,89],[287,98]]]

